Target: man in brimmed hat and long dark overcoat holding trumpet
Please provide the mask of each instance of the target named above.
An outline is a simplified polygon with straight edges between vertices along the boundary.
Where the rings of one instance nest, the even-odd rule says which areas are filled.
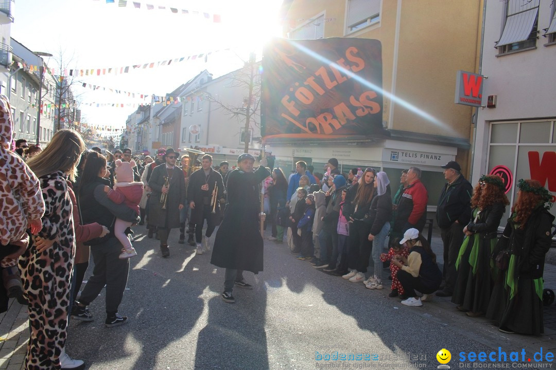
[[[152,170],[148,181],[152,190],[148,201],[148,222],[151,227],[158,227],[162,257],[170,256],[168,233],[170,229],[180,227],[180,210],[185,207],[185,180],[181,169],[176,166],[178,155],[175,150],[168,148],[163,156],[165,163]]]

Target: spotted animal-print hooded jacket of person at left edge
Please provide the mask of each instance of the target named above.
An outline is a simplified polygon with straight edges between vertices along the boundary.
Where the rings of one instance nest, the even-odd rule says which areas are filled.
[[[13,119],[11,106],[0,95],[0,244],[21,240],[27,219],[44,215],[44,200],[37,176],[23,159],[11,151]]]

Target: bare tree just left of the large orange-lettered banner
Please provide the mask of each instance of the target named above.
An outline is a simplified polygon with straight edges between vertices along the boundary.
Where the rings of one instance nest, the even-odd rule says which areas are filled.
[[[245,148],[244,152],[248,153],[249,143],[251,142],[251,129],[254,126],[259,126],[257,121],[260,122],[261,110],[261,75],[259,74],[260,63],[255,61],[255,54],[251,54],[249,60],[244,62],[244,67],[236,70],[225,78],[230,81],[229,87],[241,88],[246,92],[243,104],[240,107],[224,103],[220,98],[209,95],[209,100],[216,104],[216,109],[224,110],[226,115],[234,116],[237,121],[245,121]]]

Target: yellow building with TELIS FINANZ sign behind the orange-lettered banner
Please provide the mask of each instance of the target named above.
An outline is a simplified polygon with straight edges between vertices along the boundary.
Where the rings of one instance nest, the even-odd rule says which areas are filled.
[[[390,138],[277,139],[270,143],[277,163],[289,169],[305,160],[320,172],[334,157],[345,173],[370,166],[394,184],[400,169],[418,166],[434,211],[444,184],[440,165],[457,160],[464,174],[469,170],[473,111],[454,104],[455,77],[458,70],[478,69],[482,11],[481,0],[292,1],[286,38],[380,40],[383,126]]]

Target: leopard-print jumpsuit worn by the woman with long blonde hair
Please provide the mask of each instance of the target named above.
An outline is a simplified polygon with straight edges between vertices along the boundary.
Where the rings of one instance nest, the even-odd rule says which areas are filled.
[[[29,301],[31,336],[25,368],[30,370],[60,368],[75,255],[72,202],[66,175],[57,171],[39,180],[46,205],[39,236],[54,240],[54,244],[38,253],[33,242],[19,259],[23,288]]]

